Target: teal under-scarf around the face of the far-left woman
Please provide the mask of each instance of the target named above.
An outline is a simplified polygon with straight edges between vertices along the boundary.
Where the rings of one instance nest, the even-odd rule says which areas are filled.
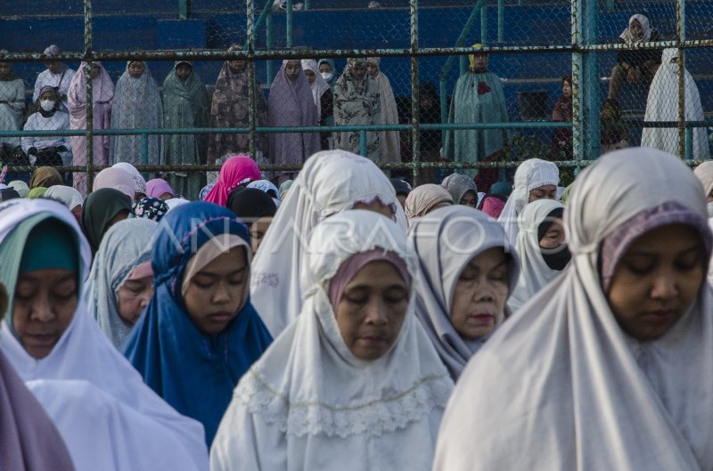
[[[32,215],[17,225],[0,244],[0,283],[8,292],[8,325],[12,322],[12,304],[17,279],[21,273],[49,268],[77,272],[79,280],[78,234],[51,213]],[[17,337],[17,335],[15,335]]]

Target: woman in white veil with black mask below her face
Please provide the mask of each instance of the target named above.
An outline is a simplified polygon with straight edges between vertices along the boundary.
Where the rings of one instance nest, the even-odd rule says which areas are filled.
[[[561,226],[563,211],[561,203],[553,199],[538,199],[520,214],[515,247],[520,256],[520,279],[507,300],[513,313],[570,263],[571,254]]]

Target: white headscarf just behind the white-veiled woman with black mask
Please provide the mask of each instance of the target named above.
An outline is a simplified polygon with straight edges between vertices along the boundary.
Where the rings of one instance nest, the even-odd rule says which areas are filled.
[[[497,218],[503,224],[505,235],[512,246],[518,240],[518,216],[528,204],[529,192],[545,185],[557,186],[560,183],[560,170],[552,162],[540,158],[530,158],[518,166],[515,171],[515,187],[507,199],[503,212]]]

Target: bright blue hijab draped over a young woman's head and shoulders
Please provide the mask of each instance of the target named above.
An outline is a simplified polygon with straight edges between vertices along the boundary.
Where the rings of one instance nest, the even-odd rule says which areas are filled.
[[[201,333],[185,312],[185,267],[211,235],[225,232],[250,247],[245,225],[225,207],[193,202],[168,212],[153,246],[153,296],[124,347],[147,385],[178,412],[201,421],[209,448],[234,387],[272,342],[250,297],[217,336]]]

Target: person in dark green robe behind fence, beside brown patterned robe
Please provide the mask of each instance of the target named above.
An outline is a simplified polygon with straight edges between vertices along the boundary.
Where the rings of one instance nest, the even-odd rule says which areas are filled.
[[[206,85],[193,70],[193,62],[176,61],[163,82],[164,126],[208,127],[208,106]],[[207,143],[205,134],[167,134],[163,141],[163,162],[172,166],[202,164]],[[176,194],[197,195],[206,178],[201,172],[173,170],[168,180]]]

